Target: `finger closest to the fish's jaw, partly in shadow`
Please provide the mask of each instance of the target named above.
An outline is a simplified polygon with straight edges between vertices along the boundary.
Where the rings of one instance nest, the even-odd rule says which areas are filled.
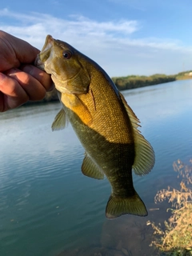
[[[45,71],[40,70],[33,65],[23,65],[20,67],[20,69],[36,78],[38,82],[40,82],[46,89],[46,91],[54,89],[54,83],[50,78],[50,74],[47,74]]]

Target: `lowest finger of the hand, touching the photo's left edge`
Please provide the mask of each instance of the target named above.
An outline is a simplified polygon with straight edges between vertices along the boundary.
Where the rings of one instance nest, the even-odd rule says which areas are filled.
[[[18,81],[0,73],[0,112],[21,106],[29,100]]]

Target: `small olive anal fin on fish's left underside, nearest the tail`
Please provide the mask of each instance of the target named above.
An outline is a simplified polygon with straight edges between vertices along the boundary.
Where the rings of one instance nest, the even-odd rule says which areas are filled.
[[[93,160],[86,154],[85,158],[82,162],[82,174],[90,177],[90,178],[97,178],[102,179],[104,178],[104,174],[102,170],[93,162]]]

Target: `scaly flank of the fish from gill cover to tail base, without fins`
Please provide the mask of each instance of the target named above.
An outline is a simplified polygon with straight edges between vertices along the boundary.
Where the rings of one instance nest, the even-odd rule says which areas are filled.
[[[97,87],[92,89],[92,83],[97,83]],[[130,119],[126,118],[126,122],[124,121],[126,110],[120,104],[117,92],[112,87],[109,88],[106,78],[98,77],[97,72],[91,74],[91,90],[94,94],[96,110],[91,94],[81,94],[78,98],[90,110],[92,123],[90,126],[85,126],[83,120],[80,122],[74,116],[70,122],[75,131],[81,130],[81,133],[77,132],[78,138],[86,148],[86,152],[94,156],[94,161],[110,180],[114,194],[126,198],[133,191],[131,169],[134,163],[134,138],[132,133],[127,132],[132,129]],[[64,101],[63,99],[62,102]],[[111,102],[113,107],[110,110]],[[70,110],[66,110],[68,111]],[[78,115],[83,116],[79,112]]]

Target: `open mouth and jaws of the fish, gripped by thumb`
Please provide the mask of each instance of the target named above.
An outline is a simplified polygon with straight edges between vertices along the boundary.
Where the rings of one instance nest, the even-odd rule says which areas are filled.
[[[34,66],[37,66],[40,70],[45,70],[45,62],[50,57],[50,49],[53,46],[54,38],[48,34],[46,36],[46,42],[42,47],[41,52],[38,54],[34,61]]]

